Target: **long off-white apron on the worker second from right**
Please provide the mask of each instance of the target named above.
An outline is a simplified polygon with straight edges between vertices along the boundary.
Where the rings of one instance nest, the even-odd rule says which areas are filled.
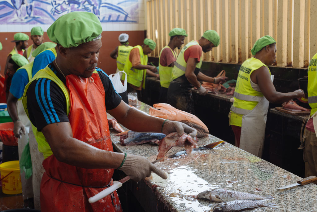
[[[271,75],[273,82],[274,75]],[[269,101],[262,96],[257,105],[242,116],[240,149],[262,157]]]

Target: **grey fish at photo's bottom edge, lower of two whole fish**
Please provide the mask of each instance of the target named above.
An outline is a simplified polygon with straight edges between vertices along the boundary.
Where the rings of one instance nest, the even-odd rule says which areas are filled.
[[[277,207],[277,204],[264,202],[264,201],[253,201],[253,200],[234,200],[230,202],[218,203],[213,209],[208,212],[230,212],[230,211],[242,211],[247,209],[256,209],[262,207]]]

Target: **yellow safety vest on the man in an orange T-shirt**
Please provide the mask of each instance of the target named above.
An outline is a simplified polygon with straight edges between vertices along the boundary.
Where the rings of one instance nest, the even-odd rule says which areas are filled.
[[[142,46],[137,45],[133,47],[133,49],[135,48],[139,49],[141,65],[147,65],[147,55],[144,55]],[[134,86],[140,87],[143,80],[142,88],[145,89],[146,69],[139,70],[132,68],[132,63],[129,60],[130,53],[131,51],[129,52],[129,55],[126,57],[126,63],[123,69],[126,72],[127,82],[133,84]],[[124,74],[122,75],[121,79],[125,79]]]

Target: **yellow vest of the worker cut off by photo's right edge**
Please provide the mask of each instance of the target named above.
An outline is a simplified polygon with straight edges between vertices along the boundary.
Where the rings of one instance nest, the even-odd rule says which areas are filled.
[[[317,54],[309,62],[308,66],[308,104],[312,108],[310,115],[317,111]]]

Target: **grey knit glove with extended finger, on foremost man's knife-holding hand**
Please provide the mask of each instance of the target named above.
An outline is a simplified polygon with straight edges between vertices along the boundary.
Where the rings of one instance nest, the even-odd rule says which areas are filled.
[[[163,179],[167,179],[166,174],[148,159],[132,154],[126,154],[126,161],[120,170],[137,182],[151,176],[151,172],[156,173]]]

